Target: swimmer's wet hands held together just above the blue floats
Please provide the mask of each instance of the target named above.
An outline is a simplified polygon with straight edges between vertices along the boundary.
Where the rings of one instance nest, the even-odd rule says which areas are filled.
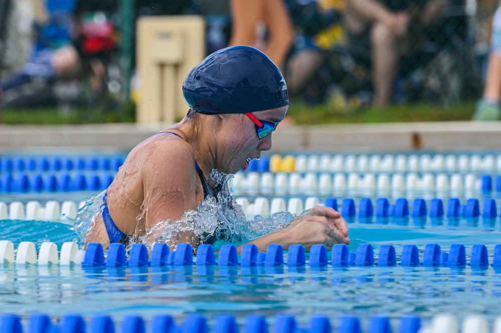
[[[301,244],[306,250],[315,244],[329,249],[335,244],[350,244],[346,220],[330,207],[315,206],[281,231],[287,243]]]

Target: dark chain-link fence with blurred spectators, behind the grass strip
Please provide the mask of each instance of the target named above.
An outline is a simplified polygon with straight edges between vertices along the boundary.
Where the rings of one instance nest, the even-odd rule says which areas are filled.
[[[113,108],[129,98],[139,16],[203,16],[209,54],[230,43],[238,1],[0,0],[0,103]],[[280,66],[291,98],[353,108],[482,95],[496,0],[282,4],[294,31]],[[263,23],[253,45],[266,51],[269,40]]]

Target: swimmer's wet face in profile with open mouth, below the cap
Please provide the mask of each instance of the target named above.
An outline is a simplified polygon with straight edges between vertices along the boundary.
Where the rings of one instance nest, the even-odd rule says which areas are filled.
[[[287,113],[287,106],[271,110],[252,112],[259,121],[280,122]],[[235,173],[249,167],[249,159],[260,158],[261,152],[271,149],[273,133],[260,139],[256,124],[245,114],[221,115],[223,122],[218,137],[219,148],[216,167],[225,173]]]

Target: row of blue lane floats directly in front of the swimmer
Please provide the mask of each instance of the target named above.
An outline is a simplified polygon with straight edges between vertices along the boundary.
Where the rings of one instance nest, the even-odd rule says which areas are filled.
[[[219,260],[216,262],[215,250],[212,245],[202,244],[198,247],[197,256],[193,256],[193,248],[190,244],[178,244],[176,251],[169,251],[166,244],[153,244],[150,260],[148,260],[148,250],[144,244],[134,244],[126,260],[125,247],[122,244],[114,243],[108,248],[106,261],[104,251],[100,243],[89,243],[85,252],[83,267],[106,266],[107,268],[128,266],[129,268],[141,266],[187,266],[196,264],[198,266],[220,267],[252,267],[252,266],[279,266],[286,264],[291,267],[298,267],[308,264],[310,267],[324,267],[329,263],[333,267],[347,266],[395,266],[396,250],[393,245],[384,244],[379,248],[377,261],[374,257],[374,248],[371,244],[360,244],[356,252],[350,252],[346,244],[333,245],[331,260],[328,260],[328,250],[325,245],[315,244],[309,250],[309,260],[306,260],[306,251],[302,245],[291,245],[284,257],[284,249],[279,244],[270,244],[266,252],[259,252],[254,244],[242,246],[240,257],[234,245],[223,245],[219,251]],[[286,259],[284,262],[284,258]],[[401,266],[449,266],[462,267],[466,265],[466,249],[462,244],[452,244],[449,252],[441,251],[438,244],[426,244],[424,246],[422,261],[419,257],[419,250],[416,245],[405,244],[400,255]],[[239,261],[240,260],[240,261]],[[487,247],[482,244],[473,245],[471,248],[470,261],[468,265],[472,267],[487,268],[489,258]],[[501,266],[501,244],[494,248],[492,266]]]

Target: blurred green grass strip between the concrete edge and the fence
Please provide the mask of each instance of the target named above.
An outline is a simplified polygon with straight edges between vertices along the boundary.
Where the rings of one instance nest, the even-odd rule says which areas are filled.
[[[383,109],[371,107],[336,108],[329,104],[307,105],[291,101],[287,115],[298,125],[344,123],[393,123],[470,120],[475,110],[473,102],[452,107],[433,104],[393,105]],[[99,124],[133,123],[135,105],[132,103],[105,108],[81,108],[68,111],[56,109],[0,110],[0,124]]]

